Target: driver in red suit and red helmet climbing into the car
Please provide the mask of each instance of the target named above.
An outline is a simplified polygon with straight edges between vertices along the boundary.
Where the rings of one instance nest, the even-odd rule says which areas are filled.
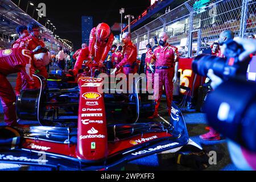
[[[114,35],[110,31],[110,27],[106,23],[100,23],[97,27],[94,27],[90,31],[90,40],[89,40],[89,55],[86,65],[93,61],[97,64],[98,67],[102,68],[102,64],[108,55],[110,48],[114,42]],[[70,75],[77,75],[79,69],[81,69],[82,61],[86,51],[81,51],[79,57],[77,58],[76,65],[74,69],[69,70]]]

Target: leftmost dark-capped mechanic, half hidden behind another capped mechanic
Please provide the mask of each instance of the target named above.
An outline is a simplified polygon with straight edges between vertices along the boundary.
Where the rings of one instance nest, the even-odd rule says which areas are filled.
[[[19,39],[15,40],[15,42],[13,42],[13,44],[11,44],[12,48],[18,48],[22,39],[24,39],[28,35],[30,35],[28,30],[27,30],[27,26],[24,26],[24,25],[19,25],[18,27],[16,27],[16,32],[19,34]],[[22,82],[20,81],[21,79],[22,78],[21,78],[21,75],[20,75],[20,72],[19,72],[18,75],[17,75],[17,79],[16,79],[16,80],[19,80],[19,81],[16,81],[16,86],[15,86],[16,96],[19,95],[19,90],[22,87]]]

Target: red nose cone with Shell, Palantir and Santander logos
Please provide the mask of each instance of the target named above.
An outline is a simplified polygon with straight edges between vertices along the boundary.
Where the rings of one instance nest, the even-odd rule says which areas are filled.
[[[108,155],[108,134],[101,78],[80,77],[80,101],[77,129],[77,156],[100,160]]]

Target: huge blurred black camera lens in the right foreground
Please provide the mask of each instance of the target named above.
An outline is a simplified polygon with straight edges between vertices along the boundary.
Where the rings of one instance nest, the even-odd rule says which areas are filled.
[[[209,95],[205,110],[214,130],[256,152],[255,82],[224,82]]]

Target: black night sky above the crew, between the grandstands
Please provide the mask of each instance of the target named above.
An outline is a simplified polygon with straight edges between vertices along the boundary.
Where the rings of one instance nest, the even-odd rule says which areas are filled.
[[[31,1],[35,6],[40,2],[46,3],[46,18],[51,20],[53,25],[57,28],[56,34],[59,35],[60,38],[68,39],[73,42],[75,49],[81,47],[81,16],[93,16],[94,26],[97,26],[98,23],[105,22],[111,27],[115,22],[121,23],[121,15],[119,14],[121,7],[126,9],[123,15],[123,23],[127,23],[127,20],[124,19],[125,15],[131,14],[137,17],[143,10],[146,10],[146,8],[150,6],[150,0]],[[27,1],[22,0],[20,7],[22,7],[24,11],[26,11],[26,5]],[[31,15],[31,12],[32,8],[29,9],[28,14]],[[40,19],[39,22],[44,25],[46,18]]]

